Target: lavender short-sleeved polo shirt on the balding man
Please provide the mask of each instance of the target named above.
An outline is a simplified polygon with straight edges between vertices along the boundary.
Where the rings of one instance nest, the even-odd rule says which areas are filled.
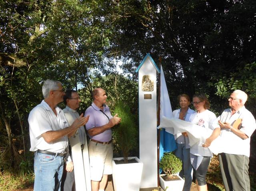
[[[90,117],[86,123],[86,130],[104,126],[108,124],[109,120],[112,118],[108,106],[104,106],[103,110],[100,111],[100,108],[98,108],[94,103],[92,103],[92,105],[86,109],[84,116],[88,115],[90,115]],[[90,138],[101,142],[108,142],[112,140],[112,130],[109,128],[108,130]]]

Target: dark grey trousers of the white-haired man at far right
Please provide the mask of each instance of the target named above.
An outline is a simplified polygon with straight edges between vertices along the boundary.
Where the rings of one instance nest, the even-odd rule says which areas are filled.
[[[226,191],[250,191],[249,158],[244,155],[220,153],[219,160]]]

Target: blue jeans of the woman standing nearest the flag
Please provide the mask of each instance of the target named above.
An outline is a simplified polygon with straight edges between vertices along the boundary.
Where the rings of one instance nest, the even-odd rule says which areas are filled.
[[[177,143],[176,145],[177,145],[177,150],[175,150],[174,154],[176,157],[181,159],[183,164],[182,170],[180,171],[179,175],[182,178],[185,177],[183,191],[190,191],[192,177],[193,177],[192,165],[190,162],[190,149],[186,149],[185,144]]]

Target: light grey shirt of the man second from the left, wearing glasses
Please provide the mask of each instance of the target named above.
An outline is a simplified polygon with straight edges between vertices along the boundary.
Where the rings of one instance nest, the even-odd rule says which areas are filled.
[[[66,106],[66,108],[63,109],[64,115],[66,117],[66,119],[68,120],[69,125],[72,125],[72,123],[74,122],[74,120],[76,118],[79,118],[79,114],[76,110],[71,109],[70,107]],[[86,142],[86,134],[85,134],[85,130],[84,130],[84,126],[81,126],[76,133],[74,134],[74,136],[79,136],[80,138],[80,143],[81,145],[85,144]]]

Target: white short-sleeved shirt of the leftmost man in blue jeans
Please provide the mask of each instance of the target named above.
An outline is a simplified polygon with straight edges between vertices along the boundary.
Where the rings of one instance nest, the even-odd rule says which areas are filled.
[[[47,150],[49,152],[61,153],[68,147],[68,137],[47,143],[42,134],[47,131],[56,131],[68,127],[68,122],[64,116],[64,112],[58,106],[55,107],[57,116],[54,114],[50,106],[42,100],[40,104],[34,107],[29,116],[29,135],[30,135],[30,151]]]

